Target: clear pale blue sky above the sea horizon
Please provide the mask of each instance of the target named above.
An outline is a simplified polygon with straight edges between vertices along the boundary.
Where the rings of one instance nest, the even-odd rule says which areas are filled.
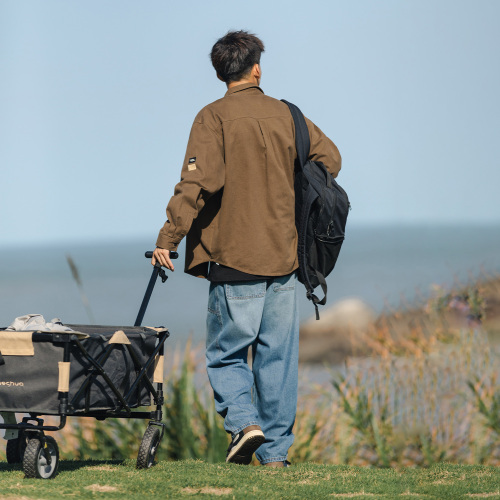
[[[259,35],[262,88],[343,156],[351,224],[500,223],[500,2],[0,2],[0,246],[150,238],[208,54]]]

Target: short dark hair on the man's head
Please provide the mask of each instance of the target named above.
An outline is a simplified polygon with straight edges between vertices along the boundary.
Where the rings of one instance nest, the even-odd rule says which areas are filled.
[[[210,59],[217,74],[226,82],[241,80],[264,52],[262,40],[248,31],[228,31],[212,47]]]

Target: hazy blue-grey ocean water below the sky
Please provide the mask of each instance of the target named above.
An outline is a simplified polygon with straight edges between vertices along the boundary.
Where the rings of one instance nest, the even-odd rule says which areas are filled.
[[[98,324],[131,325],[152,267],[144,258],[151,241],[0,247],[0,326],[23,314],[47,320],[89,323],[66,255],[75,262]],[[205,334],[208,282],[182,272],[181,245],[176,271],[157,282],[143,324],[166,326],[172,343]],[[433,285],[445,288],[500,272],[498,226],[348,227],[337,266],[329,276],[328,302],[357,297],[375,312],[424,300]],[[314,309],[299,289],[301,319]]]

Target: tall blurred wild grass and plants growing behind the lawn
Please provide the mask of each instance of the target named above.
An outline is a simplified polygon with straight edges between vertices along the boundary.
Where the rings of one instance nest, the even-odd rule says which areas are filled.
[[[301,369],[291,461],[396,470],[500,466],[499,353],[479,321],[482,304],[474,290],[438,295],[420,317],[386,319],[369,331],[363,342],[371,356],[349,358],[336,372],[325,367],[329,381],[309,383]],[[450,321],[456,310],[465,323]],[[228,436],[202,354],[188,343],[168,363],[161,463],[224,462]],[[140,420],[72,418],[55,437],[63,459],[128,460],[145,428]]]

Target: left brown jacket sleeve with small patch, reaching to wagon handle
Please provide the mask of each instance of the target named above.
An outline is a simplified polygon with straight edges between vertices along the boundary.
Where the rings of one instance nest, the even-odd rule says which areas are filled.
[[[195,118],[181,171],[181,180],[167,206],[167,221],[156,246],[177,250],[207,200],[224,186],[225,165],[222,127],[202,110]]]

